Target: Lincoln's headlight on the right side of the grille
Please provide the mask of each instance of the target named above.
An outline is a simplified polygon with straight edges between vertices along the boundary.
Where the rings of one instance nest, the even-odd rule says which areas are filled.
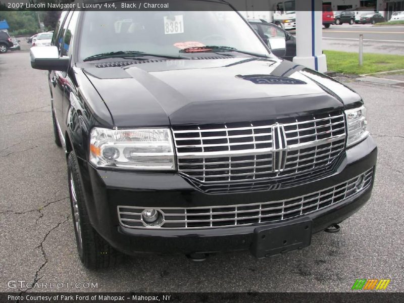
[[[360,108],[346,110],[345,116],[348,126],[346,147],[349,147],[362,141],[369,135],[367,131],[366,108],[361,106]]]

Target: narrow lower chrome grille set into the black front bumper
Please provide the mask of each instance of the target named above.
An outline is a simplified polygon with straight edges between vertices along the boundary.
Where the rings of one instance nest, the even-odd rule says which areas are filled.
[[[163,215],[160,227],[147,226],[142,221],[144,207],[118,206],[121,225],[129,228],[219,228],[252,225],[307,215],[366,190],[373,176],[373,168],[346,182],[294,198],[240,205],[191,208],[154,208]]]

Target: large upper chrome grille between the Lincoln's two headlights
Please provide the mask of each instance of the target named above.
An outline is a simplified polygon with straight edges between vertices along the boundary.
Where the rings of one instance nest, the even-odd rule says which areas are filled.
[[[345,145],[342,112],[173,127],[178,172],[207,193],[266,190],[330,173]],[[276,181],[276,182],[274,182]]]

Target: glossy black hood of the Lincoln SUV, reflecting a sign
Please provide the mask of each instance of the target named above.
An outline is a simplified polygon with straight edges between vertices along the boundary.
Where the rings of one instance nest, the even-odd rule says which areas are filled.
[[[151,60],[84,72],[118,127],[276,119],[360,100],[341,83],[279,59]]]

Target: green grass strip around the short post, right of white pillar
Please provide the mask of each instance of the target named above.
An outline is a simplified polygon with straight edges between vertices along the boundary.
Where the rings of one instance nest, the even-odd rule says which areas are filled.
[[[358,53],[324,51],[327,69],[342,74],[371,74],[404,69],[404,56],[363,54],[363,66],[359,66]]]

